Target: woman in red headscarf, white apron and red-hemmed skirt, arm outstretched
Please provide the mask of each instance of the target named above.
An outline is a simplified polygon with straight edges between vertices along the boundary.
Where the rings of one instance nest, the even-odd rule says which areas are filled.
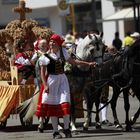
[[[72,137],[69,129],[70,89],[68,79],[64,73],[65,61],[76,65],[96,65],[95,62],[85,62],[71,58],[67,50],[62,47],[63,42],[63,38],[58,34],[53,34],[49,42],[49,51],[39,58],[41,79],[44,85],[41,102],[43,104],[45,116],[51,118],[54,139],[62,138],[58,132],[59,117],[63,117],[64,134],[66,138]]]

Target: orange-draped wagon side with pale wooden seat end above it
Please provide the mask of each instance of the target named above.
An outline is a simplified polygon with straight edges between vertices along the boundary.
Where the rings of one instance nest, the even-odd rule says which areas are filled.
[[[10,63],[11,64],[11,63]],[[31,98],[36,86],[33,77],[27,80],[26,85],[19,85],[20,74],[17,67],[10,65],[10,80],[0,81],[0,126],[5,127],[10,114],[16,114],[14,110],[25,100]],[[3,73],[1,73],[3,75]]]

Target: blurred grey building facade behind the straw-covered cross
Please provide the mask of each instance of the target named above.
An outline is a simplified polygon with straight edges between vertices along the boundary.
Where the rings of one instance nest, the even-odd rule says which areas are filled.
[[[0,27],[5,27],[12,20],[19,19],[19,14],[12,11],[18,6],[18,0],[0,0]],[[68,7],[60,8],[59,2],[66,1]],[[91,4],[92,0],[73,0],[74,20],[76,31],[91,30],[94,28],[93,20],[96,21]],[[73,26],[70,8],[70,0],[26,0],[26,7],[32,8],[32,13],[27,13],[26,18],[37,20],[41,25],[50,27],[59,34],[65,34]],[[64,6],[64,4],[62,3]],[[6,9],[6,10],[5,10]],[[101,1],[96,0],[96,17],[101,19]],[[97,25],[102,30],[100,20]]]

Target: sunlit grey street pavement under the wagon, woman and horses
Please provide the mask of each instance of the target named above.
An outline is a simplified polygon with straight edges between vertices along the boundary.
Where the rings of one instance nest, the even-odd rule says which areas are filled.
[[[110,98],[112,96],[112,91],[110,90]],[[139,107],[139,102],[136,97],[130,96],[130,117],[136,112]],[[95,107],[93,107],[95,110]],[[125,128],[125,112],[124,112],[124,102],[123,96],[120,95],[117,103],[117,113],[120,123],[123,128]],[[113,117],[110,105],[108,106],[108,120],[113,123]],[[122,129],[117,129],[112,126],[102,126],[102,129],[96,129],[94,125],[95,114],[92,114],[92,126],[89,127],[87,132],[83,131],[82,124],[84,119],[77,119],[77,128],[79,130],[78,135],[74,135],[70,139],[75,140],[138,140],[140,139],[140,118],[138,118],[135,125],[133,125],[132,132],[125,132]],[[60,120],[62,121],[62,120]],[[44,133],[39,133],[37,131],[38,119],[36,116],[33,118],[33,125],[31,127],[25,128],[21,126],[18,115],[10,115],[7,121],[7,127],[0,130],[0,140],[51,140],[52,139],[52,127],[51,122],[49,122]],[[64,134],[61,133],[64,138]]]

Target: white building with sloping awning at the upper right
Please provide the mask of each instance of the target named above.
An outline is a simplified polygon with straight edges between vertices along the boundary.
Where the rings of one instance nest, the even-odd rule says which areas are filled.
[[[102,0],[102,11],[105,40],[109,44],[116,31],[122,40],[127,32],[140,32],[140,0]]]

